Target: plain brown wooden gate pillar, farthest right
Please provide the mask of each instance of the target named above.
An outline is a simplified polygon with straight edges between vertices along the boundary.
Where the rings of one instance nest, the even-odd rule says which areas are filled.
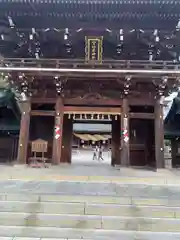
[[[156,168],[164,168],[164,121],[161,98],[155,102],[155,159]]]

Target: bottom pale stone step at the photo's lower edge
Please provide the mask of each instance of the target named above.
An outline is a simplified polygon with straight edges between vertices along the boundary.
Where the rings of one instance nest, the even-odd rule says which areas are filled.
[[[138,232],[138,231],[117,231],[100,229],[61,229],[47,227],[18,227],[0,226],[0,234],[3,237],[14,237],[13,240],[179,240],[180,233],[168,232]],[[31,239],[30,239],[31,238]],[[37,240],[35,239],[35,240]],[[9,240],[9,239],[8,239]]]

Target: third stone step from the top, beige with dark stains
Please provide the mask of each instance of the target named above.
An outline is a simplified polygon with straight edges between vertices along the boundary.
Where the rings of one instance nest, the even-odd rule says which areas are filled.
[[[142,206],[142,205],[107,204],[107,203],[93,204],[88,202],[73,203],[73,202],[0,201],[0,214],[3,212],[180,219],[180,207]]]

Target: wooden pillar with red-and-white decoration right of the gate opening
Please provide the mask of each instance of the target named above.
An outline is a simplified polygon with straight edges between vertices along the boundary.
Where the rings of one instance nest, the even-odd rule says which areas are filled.
[[[128,99],[122,100],[121,113],[121,166],[127,167],[130,164],[129,152],[129,104]]]

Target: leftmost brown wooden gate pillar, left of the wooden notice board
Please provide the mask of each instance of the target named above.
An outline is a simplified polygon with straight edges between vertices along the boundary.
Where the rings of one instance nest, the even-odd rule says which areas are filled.
[[[30,99],[28,99],[27,101],[24,101],[21,104],[22,104],[22,114],[21,114],[21,124],[20,124],[20,133],[19,133],[17,162],[19,164],[26,164],[28,143],[29,143],[31,101]]]

